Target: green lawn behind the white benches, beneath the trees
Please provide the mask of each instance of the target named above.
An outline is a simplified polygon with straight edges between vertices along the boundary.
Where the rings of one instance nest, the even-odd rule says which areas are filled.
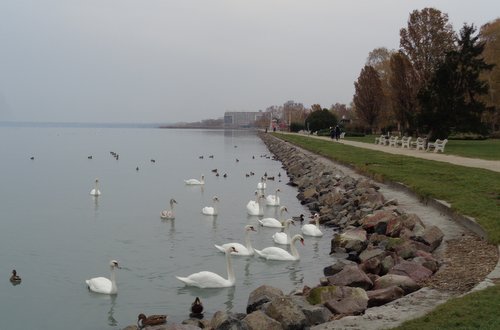
[[[346,140],[374,143],[379,135],[365,135],[362,137],[346,137]],[[488,140],[449,140],[446,143],[446,154],[462,157],[500,160],[500,139]]]

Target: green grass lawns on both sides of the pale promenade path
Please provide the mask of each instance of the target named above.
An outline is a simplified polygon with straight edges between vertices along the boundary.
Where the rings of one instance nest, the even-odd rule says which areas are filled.
[[[488,240],[500,244],[500,173],[386,154],[295,134],[276,136],[354,166],[376,180],[402,182],[424,198],[445,200],[456,212],[474,217],[487,232]],[[374,141],[374,137],[350,139]],[[499,142],[451,140],[450,149],[447,144],[445,151],[462,156],[500,159]],[[482,156],[484,154],[489,157]],[[500,329],[499,311],[500,286],[497,284],[451,299],[431,313],[405,322],[397,329]]]

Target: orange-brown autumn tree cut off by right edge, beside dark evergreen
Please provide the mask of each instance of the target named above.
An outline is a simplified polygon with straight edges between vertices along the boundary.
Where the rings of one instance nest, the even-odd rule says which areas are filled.
[[[483,120],[492,131],[498,131],[500,130],[500,18],[483,25],[479,38],[485,43],[484,60],[495,65],[491,71],[482,74],[482,78],[490,87],[484,100],[491,107],[491,111],[483,115]]]

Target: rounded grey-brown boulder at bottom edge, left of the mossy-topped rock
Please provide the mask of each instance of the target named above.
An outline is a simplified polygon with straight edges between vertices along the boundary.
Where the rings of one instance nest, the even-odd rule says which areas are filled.
[[[284,330],[301,330],[307,324],[307,318],[291,297],[277,297],[266,304],[264,312],[275,319]]]

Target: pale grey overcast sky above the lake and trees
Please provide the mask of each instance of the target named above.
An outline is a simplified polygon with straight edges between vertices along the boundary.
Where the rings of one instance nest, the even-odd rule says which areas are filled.
[[[498,0],[1,0],[0,121],[176,123],[349,104],[409,14],[455,31]]]

